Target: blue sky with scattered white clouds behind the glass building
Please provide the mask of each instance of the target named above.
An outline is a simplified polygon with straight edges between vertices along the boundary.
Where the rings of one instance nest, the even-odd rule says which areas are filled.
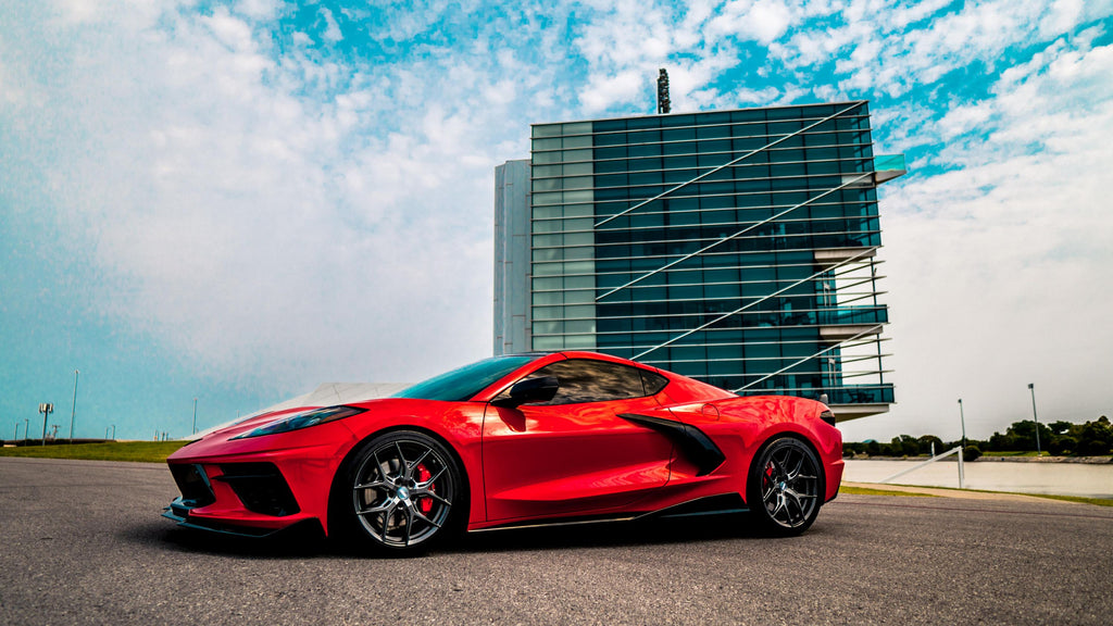
[[[529,125],[867,99],[848,441],[1113,415],[1113,0],[0,0],[0,434],[183,437],[492,352]],[[76,373],[79,371],[80,373]],[[76,387],[76,394],[75,394]],[[76,402],[75,402],[76,395]]]

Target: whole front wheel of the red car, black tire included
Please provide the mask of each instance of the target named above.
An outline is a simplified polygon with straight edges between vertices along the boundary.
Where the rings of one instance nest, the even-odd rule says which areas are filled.
[[[398,430],[371,439],[337,485],[342,539],[375,555],[412,556],[456,535],[467,517],[467,485],[436,439]]]

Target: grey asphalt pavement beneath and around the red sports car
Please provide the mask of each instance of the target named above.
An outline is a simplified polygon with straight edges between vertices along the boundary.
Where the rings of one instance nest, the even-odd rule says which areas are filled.
[[[841,496],[741,516],[485,532],[421,558],[161,519],[161,464],[0,458],[0,624],[1110,624],[1113,509]]]

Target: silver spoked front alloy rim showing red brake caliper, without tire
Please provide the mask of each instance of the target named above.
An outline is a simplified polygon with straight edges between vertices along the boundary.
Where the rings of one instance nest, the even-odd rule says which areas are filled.
[[[352,486],[359,526],[376,544],[413,548],[447,522],[460,488],[453,464],[420,433],[392,433],[374,442]]]

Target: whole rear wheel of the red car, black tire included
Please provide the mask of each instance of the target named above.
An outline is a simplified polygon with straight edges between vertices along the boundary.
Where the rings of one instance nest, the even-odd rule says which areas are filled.
[[[804,532],[816,521],[823,499],[823,467],[804,441],[772,439],[754,457],[746,501],[766,532],[779,537]]]

